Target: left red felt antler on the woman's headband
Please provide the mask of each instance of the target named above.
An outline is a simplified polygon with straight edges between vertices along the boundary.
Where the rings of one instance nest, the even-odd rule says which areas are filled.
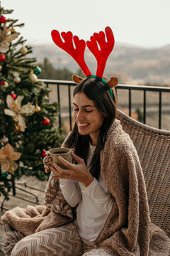
[[[78,36],[73,36],[72,32],[62,32],[61,36],[64,39],[64,42],[62,41],[62,38],[60,36],[60,33],[57,30],[52,31],[52,40],[55,42],[57,46],[62,48],[62,50],[65,50],[69,55],[76,60],[76,62],[79,64],[79,67],[84,72],[86,76],[91,75],[89,68],[87,67],[85,60],[84,60],[84,51],[86,48],[86,43],[84,40],[79,40]],[[76,48],[74,48],[74,44]]]

